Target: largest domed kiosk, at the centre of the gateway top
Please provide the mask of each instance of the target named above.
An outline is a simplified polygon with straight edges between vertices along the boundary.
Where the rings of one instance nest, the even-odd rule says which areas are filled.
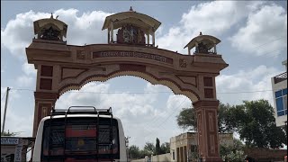
[[[130,7],[129,12],[107,16],[102,30],[108,31],[108,43],[155,47],[155,31],[160,24],[156,19],[136,13]],[[115,35],[114,30],[117,30]]]

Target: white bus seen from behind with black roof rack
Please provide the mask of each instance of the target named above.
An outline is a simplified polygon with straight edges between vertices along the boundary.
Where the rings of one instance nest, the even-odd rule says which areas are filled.
[[[111,108],[54,110],[40,121],[32,161],[127,161],[121,120]]]

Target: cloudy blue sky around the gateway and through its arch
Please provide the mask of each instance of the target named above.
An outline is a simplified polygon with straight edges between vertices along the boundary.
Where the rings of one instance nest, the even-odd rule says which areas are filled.
[[[67,44],[106,43],[104,18],[130,6],[162,23],[156,33],[161,49],[187,54],[184,46],[200,31],[221,40],[217,50],[229,67],[216,79],[220,102],[264,98],[274,105],[271,77],[284,72],[282,61],[287,59],[287,1],[1,1],[1,115],[5,88],[12,87],[5,130],[31,136],[36,71],[27,64],[24,49],[34,37],[33,21],[53,13],[68,25]],[[166,86],[132,76],[89,83],[80,92],[61,95],[56,106],[112,106],[130,145],[140,148],[146,141],[165,142],[184,132],[175,116],[191,106],[187,97]]]

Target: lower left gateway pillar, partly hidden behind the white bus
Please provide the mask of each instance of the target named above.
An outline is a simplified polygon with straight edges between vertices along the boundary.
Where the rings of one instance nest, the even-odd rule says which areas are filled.
[[[42,118],[48,116],[55,106],[58,99],[58,93],[49,92],[34,92],[35,108],[34,108],[34,121],[33,121],[33,134],[32,137],[36,137],[38,125]]]

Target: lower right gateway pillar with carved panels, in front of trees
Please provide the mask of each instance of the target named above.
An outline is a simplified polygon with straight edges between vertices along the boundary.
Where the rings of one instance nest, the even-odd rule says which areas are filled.
[[[200,100],[193,103],[197,118],[198,151],[203,161],[222,161],[218,137],[218,111],[219,101]]]

